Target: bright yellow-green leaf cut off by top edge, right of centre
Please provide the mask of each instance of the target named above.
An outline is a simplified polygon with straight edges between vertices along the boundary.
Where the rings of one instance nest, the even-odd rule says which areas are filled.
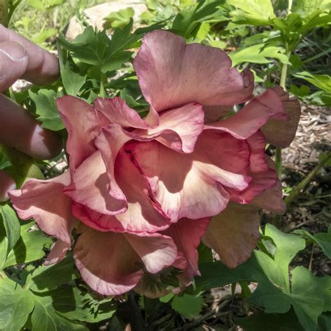
[[[270,0],[228,0],[226,2],[238,8],[231,12],[236,23],[269,25],[275,17]]]

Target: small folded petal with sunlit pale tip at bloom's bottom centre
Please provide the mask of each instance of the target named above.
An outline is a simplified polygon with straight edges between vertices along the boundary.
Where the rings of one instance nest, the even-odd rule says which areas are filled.
[[[131,235],[124,234],[131,247],[142,259],[147,272],[155,274],[169,267],[177,257],[177,247],[173,240],[159,233]]]

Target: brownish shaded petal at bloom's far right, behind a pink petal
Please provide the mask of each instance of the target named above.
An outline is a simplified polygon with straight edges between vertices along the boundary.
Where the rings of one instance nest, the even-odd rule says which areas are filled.
[[[290,117],[287,122],[270,119],[261,130],[267,138],[267,142],[275,146],[287,147],[295,137],[297,125],[300,121],[300,102],[297,98],[289,98],[281,87],[273,87],[272,90],[279,95],[283,103],[286,115]]]

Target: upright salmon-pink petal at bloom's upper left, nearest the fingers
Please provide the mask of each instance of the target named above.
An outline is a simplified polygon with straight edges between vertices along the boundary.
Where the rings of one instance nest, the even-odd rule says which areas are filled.
[[[57,108],[68,131],[67,151],[73,174],[75,168],[96,151],[94,140],[100,125],[94,108],[75,96],[58,98]]]

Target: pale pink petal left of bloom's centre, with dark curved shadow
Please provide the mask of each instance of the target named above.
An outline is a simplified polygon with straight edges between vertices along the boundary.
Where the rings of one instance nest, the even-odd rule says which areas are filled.
[[[100,151],[96,151],[75,170],[64,193],[101,214],[114,215],[126,210],[126,200],[111,196],[110,181]]]

